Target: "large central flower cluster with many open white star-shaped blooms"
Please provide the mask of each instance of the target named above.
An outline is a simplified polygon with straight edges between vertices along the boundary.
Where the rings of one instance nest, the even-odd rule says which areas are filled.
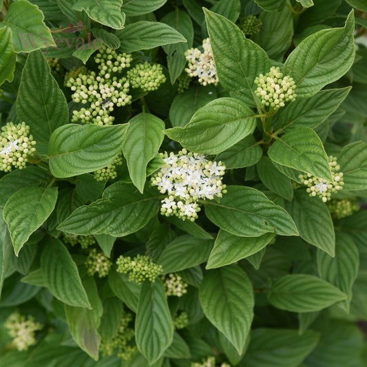
[[[198,218],[199,199],[213,200],[222,197],[225,185],[221,176],[226,167],[222,162],[211,162],[202,154],[182,149],[178,154],[160,154],[166,165],[151,178],[160,193],[167,193],[162,200],[162,215],[178,216],[182,220]]]

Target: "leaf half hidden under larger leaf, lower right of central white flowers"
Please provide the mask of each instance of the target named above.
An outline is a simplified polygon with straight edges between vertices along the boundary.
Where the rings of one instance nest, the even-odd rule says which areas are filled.
[[[219,268],[247,258],[264,249],[274,236],[273,233],[265,233],[260,237],[238,237],[220,229],[206,269]]]

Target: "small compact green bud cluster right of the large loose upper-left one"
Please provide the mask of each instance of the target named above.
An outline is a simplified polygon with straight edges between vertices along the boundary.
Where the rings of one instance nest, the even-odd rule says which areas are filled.
[[[127,78],[133,88],[140,88],[145,92],[158,90],[158,87],[165,83],[166,77],[163,74],[162,66],[155,63],[139,63],[127,71]]]

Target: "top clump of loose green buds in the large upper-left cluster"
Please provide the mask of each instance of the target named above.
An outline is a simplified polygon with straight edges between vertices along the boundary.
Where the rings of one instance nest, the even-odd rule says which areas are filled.
[[[94,56],[94,62],[100,70],[99,74],[109,78],[112,73],[120,73],[125,67],[130,67],[132,55],[125,52],[118,54],[116,50],[103,45],[96,56]]]

